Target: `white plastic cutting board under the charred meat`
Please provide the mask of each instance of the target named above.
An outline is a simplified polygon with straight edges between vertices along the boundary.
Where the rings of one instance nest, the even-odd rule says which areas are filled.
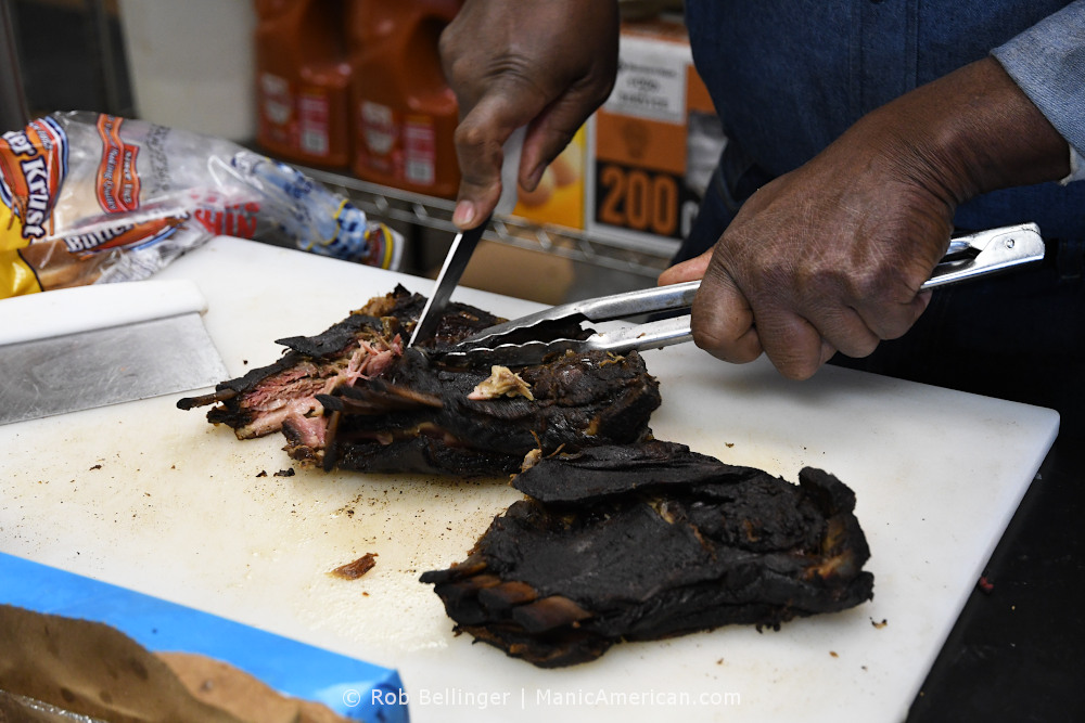
[[[159,275],[200,285],[238,375],[273,361],[276,338],[319,333],[396,282],[432,284],[233,238]],[[507,317],[535,308],[469,289],[454,299]],[[506,480],[276,477],[294,467],[281,436],[238,441],[174,397],[0,427],[0,550],[398,668],[417,723],[902,720],[1058,415],[833,367],[793,383],[688,345],[647,359],[663,395],[659,438],[791,481],[821,467],[855,490],[871,603],[538,670],[452,635],[418,582],[520,499]],[[328,574],[369,552],[363,578]]]

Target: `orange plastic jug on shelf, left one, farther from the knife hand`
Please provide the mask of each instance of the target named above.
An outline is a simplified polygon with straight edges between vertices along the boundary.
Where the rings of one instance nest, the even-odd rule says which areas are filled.
[[[256,0],[256,141],[286,160],[350,164],[345,0]]]

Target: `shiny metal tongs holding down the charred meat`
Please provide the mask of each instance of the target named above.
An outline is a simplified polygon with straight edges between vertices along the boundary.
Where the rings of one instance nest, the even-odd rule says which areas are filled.
[[[958,236],[934,267],[930,281],[922,288],[937,288],[961,281],[1034,263],[1044,258],[1044,240],[1035,223],[1005,227]],[[551,353],[561,351],[610,351],[615,354],[634,349],[658,349],[692,339],[690,315],[685,313],[642,324],[596,332],[586,338],[531,338],[544,324],[553,322],[603,322],[688,309],[700,287],[700,281],[659,286],[627,294],[550,307],[538,313],[490,326],[460,341],[442,356],[452,365],[505,364],[508,366],[537,364]]]

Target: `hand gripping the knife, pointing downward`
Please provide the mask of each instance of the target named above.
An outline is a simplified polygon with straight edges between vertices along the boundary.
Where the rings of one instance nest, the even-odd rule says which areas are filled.
[[[520,184],[547,165],[607,100],[617,73],[616,0],[467,0],[441,37],[460,106],[462,180],[452,221],[489,216],[501,195],[502,145],[527,126]]]

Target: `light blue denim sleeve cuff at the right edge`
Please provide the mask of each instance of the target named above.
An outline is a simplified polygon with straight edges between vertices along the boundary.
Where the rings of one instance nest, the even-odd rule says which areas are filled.
[[[1071,173],[1085,180],[1085,0],[995,48],[992,54],[1070,143]]]

